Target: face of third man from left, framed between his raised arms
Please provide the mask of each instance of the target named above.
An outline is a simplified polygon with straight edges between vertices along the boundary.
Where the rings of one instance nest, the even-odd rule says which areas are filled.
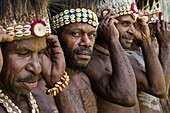
[[[116,27],[120,33],[119,41],[124,49],[129,49],[134,39],[133,32],[136,22],[131,15],[123,15],[118,17],[119,23]]]

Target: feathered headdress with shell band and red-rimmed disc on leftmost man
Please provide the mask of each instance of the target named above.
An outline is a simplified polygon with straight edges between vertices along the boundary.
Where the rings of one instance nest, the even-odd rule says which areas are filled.
[[[0,25],[14,40],[51,33],[47,0],[0,0]]]

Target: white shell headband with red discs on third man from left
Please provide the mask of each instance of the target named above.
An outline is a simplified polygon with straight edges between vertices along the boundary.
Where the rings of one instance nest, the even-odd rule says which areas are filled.
[[[101,15],[105,16],[110,10],[112,10],[113,14],[117,14],[118,16],[131,14],[134,19],[138,17],[138,8],[137,5],[133,2],[132,4],[129,3],[121,3],[115,4],[112,8],[105,8],[101,11]]]

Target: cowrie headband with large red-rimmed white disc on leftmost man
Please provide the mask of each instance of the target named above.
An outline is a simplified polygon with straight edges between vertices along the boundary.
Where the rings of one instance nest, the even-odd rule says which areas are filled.
[[[14,20],[15,21],[15,20]],[[31,38],[31,35],[43,37],[51,33],[49,23],[44,20],[34,20],[31,24],[11,24],[3,30],[10,36],[14,36],[14,40]]]

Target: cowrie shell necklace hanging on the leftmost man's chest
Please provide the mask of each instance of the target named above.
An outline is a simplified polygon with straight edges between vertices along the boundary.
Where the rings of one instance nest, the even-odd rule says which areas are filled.
[[[36,103],[36,100],[34,99],[32,93],[28,93],[28,101],[29,105],[32,108],[32,113],[39,113],[38,105]],[[0,89],[0,104],[2,104],[8,113],[22,113],[22,111],[16,106],[11,99],[8,98],[7,95],[5,95],[2,92],[2,89]]]

